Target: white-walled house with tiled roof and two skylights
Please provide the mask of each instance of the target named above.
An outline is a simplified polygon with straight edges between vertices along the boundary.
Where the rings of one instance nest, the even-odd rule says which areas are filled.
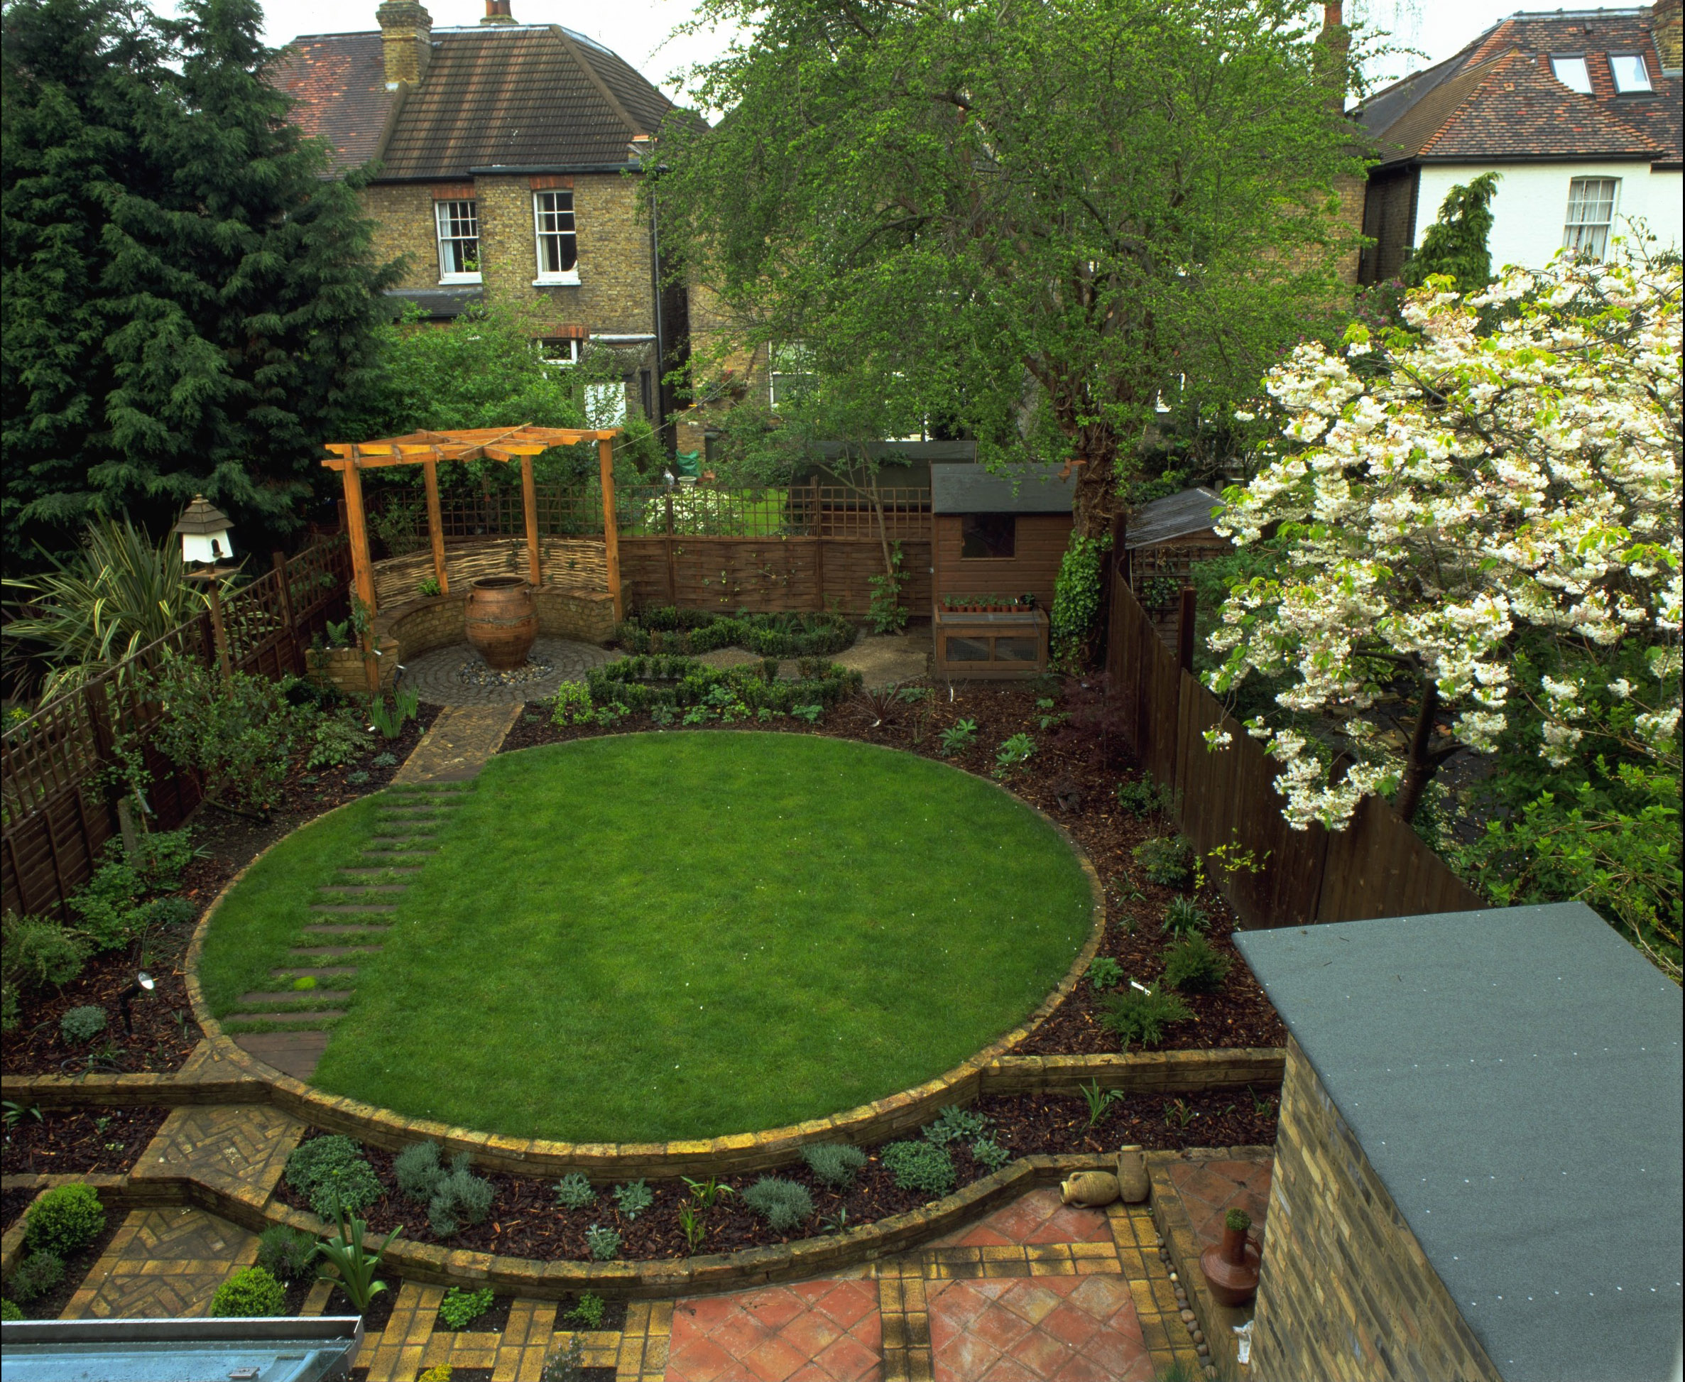
[[[1626,10],[1518,12],[1353,113],[1370,170],[1360,283],[1397,276],[1454,184],[1500,174],[1491,261],[1602,254],[1641,217],[1678,249],[1680,0]]]

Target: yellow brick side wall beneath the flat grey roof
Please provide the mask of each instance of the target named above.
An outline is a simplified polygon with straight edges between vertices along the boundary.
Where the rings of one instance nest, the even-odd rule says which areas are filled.
[[[1252,1335],[1254,1382],[1501,1382],[1296,1042]]]

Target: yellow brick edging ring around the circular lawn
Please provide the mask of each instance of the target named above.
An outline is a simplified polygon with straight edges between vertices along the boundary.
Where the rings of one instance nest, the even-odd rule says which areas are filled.
[[[883,748],[881,745],[866,745]],[[885,748],[883,752],[900,752]],[[960,772],[960,769],[955,769]],[[967,774],[972,775],[974,774]],[[979,779],[989,782],[989,779]],[[989,782],[996,790],[1006,792],[998,782]],[[1011,795],[1011,792],[1008,792]],[[516,1175],[561,1175],[564,1171],[585,1171],[598,1178],[634,1180],[639,1176],[679,1176],[679,1175],[735,1175],[762,1171],[794,1161],[800,1148],[816,1141],[849,1141],[876,1143],[893,1138],[928,1122],[944,1104],[971,1104],[982,1092],[984,1070],[1004,1057],[1013,1047],[1030,1036],[1082,979],[1100,947],[1105,934],[1105,890],[1100,875],[1089,860],[1087,851],[1072,838],[1058,821],[1030,802],[1013,795],[1013,801],[1026,811],[1040,816],[1050,824],[1077,858],[1083,876],[1089,880],[1092,897],[1090,915],[1094,919],[1089,939],[1077,952],[1075,961],[1058,986],[1036,1006],[1023,1023],[1004,1036],[991,1042],[969,1060],[898,1094],[885,1095],[871,1104],[861,1104],[829,1117],[807,1119],[804,1122],[772,1128],[760,1133],[733,1133],[723,1138],[699,1138],[669,1143],[563,1143],[548,1138],[509,1138],[499,1133],[480,1133],[470,1128],[458,1128],[435,1119],[404,1117],[391,1109],[366,1104],[361,1099],[349,1099],[337,1094],[325,1094],[303,1080],[283,1075],[263,1060],[244,1052],[222,1031],[221,1023],[211,1016],[199,986],[197,966],[204,949],[204,939],[211,922],[221,910],[224,900],[239,885],[246,871],[258,860],[236,873],[206,908],[204,917],[194,930],[194,939],[187,947],[184,969],[187,971],[187,998],[192,1003],[194,1016],[211,1043],[212,1055],[239,1069],[244,1075],[263,1080],[270,1087],[270,1102],[317,1128],[330,1133],[345,1133],[374,1146],[398,1151],[409,1143],[431,1139],[448,1153],[467,1151],[482,1168],[511,1171]],[[335,807],[344,809],[344,807]],[[325,819],[332,812],[318,816]],[[315,824],[315,821],[308,822]],[[302,828],[300,828],[302,829]],[[290,839],[292,834],[283,836]],[[273,849],[281,841],[270,846]]]

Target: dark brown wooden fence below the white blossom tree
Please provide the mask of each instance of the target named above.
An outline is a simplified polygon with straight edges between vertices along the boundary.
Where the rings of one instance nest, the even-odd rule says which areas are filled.
[[[1296,831],[1282,819],[1279,765],[1185,671],[1112,563],[1107,683],[1124,737],[1146,769],[1176,792],[1183,834],[1210,854],[1259,863],[1208,868],[1247,927],[1355,922],[1463,912],[1484,903],[1400,821],[1387,802],[1365,797],[1343,831]],[[1222,725],[1227,748],[1205,731]]]

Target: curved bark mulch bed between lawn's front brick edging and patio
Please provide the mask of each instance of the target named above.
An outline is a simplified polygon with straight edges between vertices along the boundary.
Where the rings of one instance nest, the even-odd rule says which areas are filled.
[[[1077,1094],[991,1095],[972,1109],[994,1121],[992,1136],[1001,1146],[1013,1156],[1024,1156],[1105,1153],[1129,1143],[1149,1149],[1274,1143],[1276,1104],[1274,1090],[1259,1090],[1257,1095],[1249,1095],[1245,1090],[1206,1090],[1173,1099],[1136,1094],[1109,1102],[1092,1128],[1089,1104]],[[415,1242],[441,1242],[452,1249],[541,1261],[588,1261],[591,1254],[585,1234],[591,1225],[620,1234],[620,1257],[650,1261],[687,1257],[693,1252],[770,1247],[841,1227],[859,1227],[918,1208],[930,1200],[920,1192],[900,1188],[881,1161],[881,1148],[876,1146],[868,1148],[869,1161],[849,1190],[822,1185],[805,1163],[797,1163],[782,1166],[775,1175],[807,1186],[814,1200],[814,1217],[800,1232],[775,1234],[741,1198],[741,1192],[758,1176],[721,1176],[719,1183],[736,1193],[721,1195],[703,1212],[706,1235],[693,1249],[679,1227],[679,1208],[691,1203],[691,1190],[682,1180],[652,1181],[649,1190],[654,1203],[635,1219],[629,1219],[618,1210],[612,1186],[596,1188],[595,1205],[564,1208],[556,1203],[554,1181],[489,1171],[485,1176],[495,1190],[490,1215],[482,1224],[462,1229],[452,1239],[438,1239],[428,1229],[426,1208],[398,1192],[393,1153],[371,1146],[364,1146],[362,1151],[384,1190],[376,1203],[362,1210],[371,1232],[388,1234],[403,1225],[404,1237]],[[964,1141],[950,1143],[949,1154],[954,1158],[957,1186],[989,1175],[989,1168],[972,1158]],[[308,1202],[285,1181],[275,1193],[283,1203],[308,1208]]]

